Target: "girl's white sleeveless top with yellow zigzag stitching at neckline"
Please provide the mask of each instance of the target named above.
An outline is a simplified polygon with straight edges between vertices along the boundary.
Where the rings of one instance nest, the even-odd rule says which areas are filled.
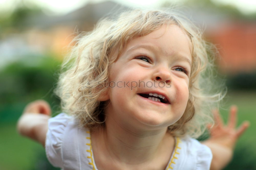
[[[98,170],[91,146],[90,131],[78,128],[72,116],[61,113],[49,119],[45,149],[49,162],[63,170]],[[166,170],[207,170],[211,150],[195,139],[176,138]]]

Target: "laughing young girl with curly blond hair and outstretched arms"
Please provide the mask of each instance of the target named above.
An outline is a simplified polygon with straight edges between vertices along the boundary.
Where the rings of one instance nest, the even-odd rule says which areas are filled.
[[[74,41],[57,95],[27,105],[18,130],[42,143],[62,169],[222,169],[237,138],[235,106],[228,126],[209,110],[212,61],[201,32],[179,15],[133,10],[101,20]],[[207,76],[205,75],[207,72]],[[205,127],[210,138],[199,137]]]

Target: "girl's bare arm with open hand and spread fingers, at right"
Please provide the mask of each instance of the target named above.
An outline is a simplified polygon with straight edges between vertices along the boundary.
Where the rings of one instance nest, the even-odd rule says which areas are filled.
[[[229,121],[227,126],[219,115],[219,111],[213,111],[215,117],[215,125],[208,126],[210,138],[203,144],[207,145],[212,151],[211,170],[223,169],[232,159],[233,149],[237,139],[249,127],[249,122],[244,122],[238,129],[237,123],[237,107],[232,106],[229,113]]]

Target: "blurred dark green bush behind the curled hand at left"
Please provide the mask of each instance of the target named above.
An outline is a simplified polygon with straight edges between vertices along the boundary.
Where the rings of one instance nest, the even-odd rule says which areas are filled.
[[[32,57],[32,56],[31,56]],[[27,59],[31,57],[26,57]],[[44,56],[41,61],[27,64],[27,61],[16,61],[7,65],[0,75],[0,122],[17,120],[24,105],[35,99],[52,101],[52,107],[59,104],[53,89],[57,80],[60,61]]]

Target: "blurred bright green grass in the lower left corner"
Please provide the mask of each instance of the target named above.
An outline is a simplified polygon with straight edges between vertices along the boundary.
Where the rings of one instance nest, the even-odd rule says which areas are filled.
[[[0,126],[0,167],[9,169],[33,169],[38,152],[44,148],[20,136],[16,131],[16,123],[2,123]]]

